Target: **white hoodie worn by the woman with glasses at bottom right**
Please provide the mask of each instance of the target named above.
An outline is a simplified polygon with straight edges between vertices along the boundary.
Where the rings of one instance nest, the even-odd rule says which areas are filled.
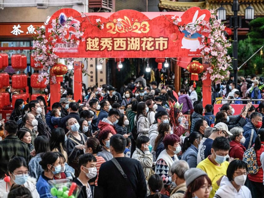
[[[252,196],[247,186],[241,186],[239,191],[237,191],[228,178],[224,176],[220,182],[219,189],[214,195],[214,198],[218,197],[251,198]]]

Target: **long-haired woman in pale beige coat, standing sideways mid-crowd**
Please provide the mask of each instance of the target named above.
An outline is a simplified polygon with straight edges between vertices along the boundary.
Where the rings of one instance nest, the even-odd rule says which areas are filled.
[[[146,117],[148,111],[149,111],[149,107],[146,106],[146,103],[139,102],[137,106],[137,116],[135,116],[134,118],[137,121],[138,137],[141,135],[145,135],[149,137],[150,125],[149,125],[148,118]]]

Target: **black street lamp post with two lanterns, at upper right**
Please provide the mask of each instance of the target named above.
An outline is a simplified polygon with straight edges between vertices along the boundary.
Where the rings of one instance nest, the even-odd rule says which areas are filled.
[[[234,70],[234,82],[235,88],[238,86],[238,28],[241,27],[241,20],[238,17],[238,11],[241,4],[249,4],[246,2],[238,3],[238,0],[233,0],[231,3],[221,3],[221,7],[218,8],[218,18],[221,20],[226,20],[226,9],[222,5],[231,5],[234,15],[230,17],[230,27],[234,29],[234,40],[233,40],[233,70]],[[254,19],[254,8],[250,5],[245,9],[245,19]],[[238,23],[239,21],[239,23]]]

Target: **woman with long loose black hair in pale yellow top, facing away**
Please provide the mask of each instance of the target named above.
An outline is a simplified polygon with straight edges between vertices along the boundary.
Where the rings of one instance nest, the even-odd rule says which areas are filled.
[[[49,146],[51,152],[59,152],[63,154],[65,158],[65,162],[67,163],[68,160],[68,155],[67,155],[67,149],[65,142],[67,140],[67,137],[65,135],[64,129],[63,128],[56,128],[53,129],[51,132],[51,136],[49,139]]]

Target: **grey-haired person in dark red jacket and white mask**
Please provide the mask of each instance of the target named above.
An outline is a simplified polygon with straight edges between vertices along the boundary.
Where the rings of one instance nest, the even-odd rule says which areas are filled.
[[[243,136],[243,128],[242,127],[234,127],[230,130],[230,133],[233,135],[230,136],[230,150],[229,156],[234,159],[243,159],[243,154],[246,151],[246,148],[242,145],[245,143],[246,138]]]

